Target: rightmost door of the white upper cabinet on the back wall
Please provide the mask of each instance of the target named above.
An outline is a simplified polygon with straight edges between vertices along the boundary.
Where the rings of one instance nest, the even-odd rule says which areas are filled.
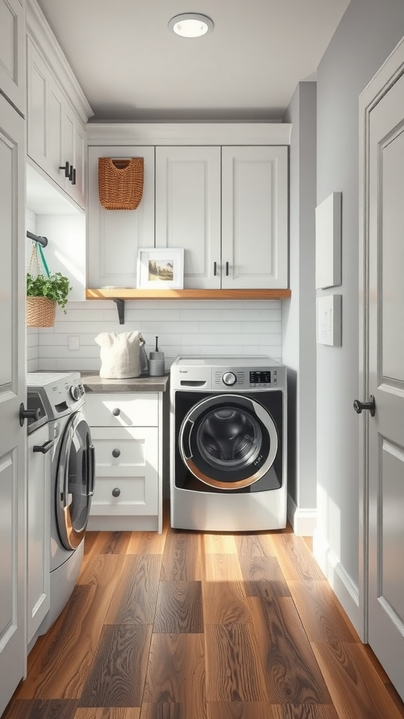
[[[222,288],[288,287],[288,148],[223,147],[221,181]]]

